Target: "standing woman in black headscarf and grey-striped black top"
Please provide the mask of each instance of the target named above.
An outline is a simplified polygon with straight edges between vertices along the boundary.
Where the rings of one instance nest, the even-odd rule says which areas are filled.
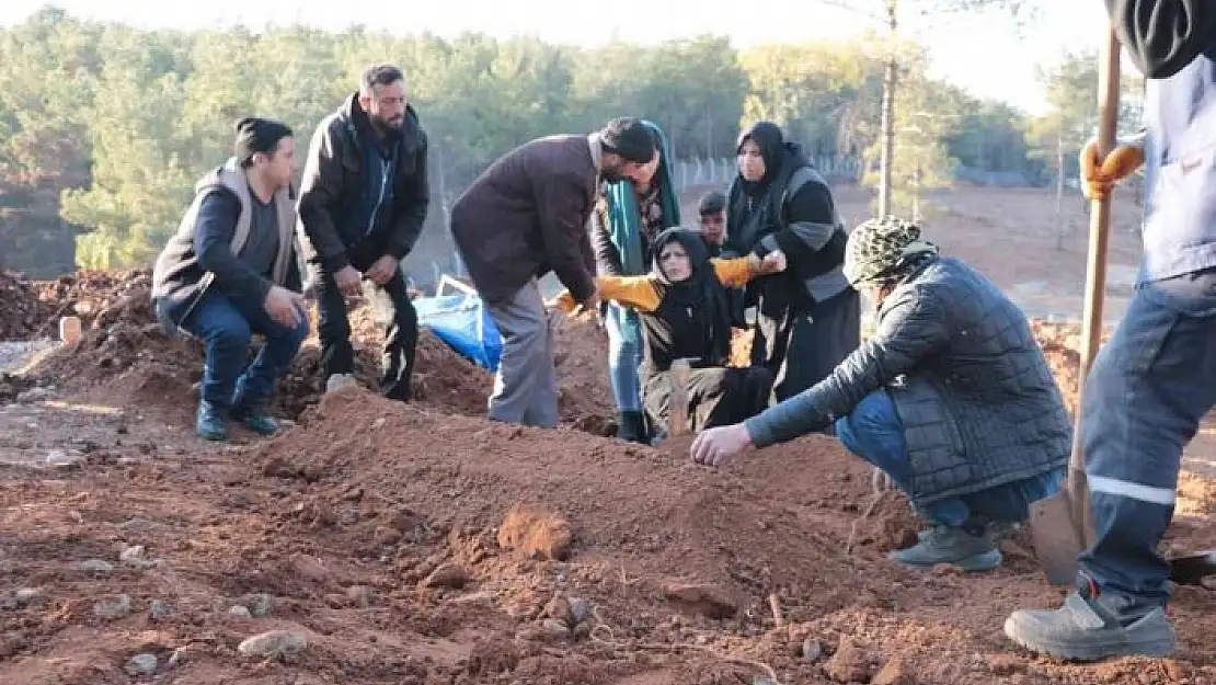
[[[760,122],[739,136],[726,251],[764,257],[779,249],[789,268],[751,282],[756,308],[751,364],[775,377],[773,398],[827,377],[861,336],[861,299],[841,270],[848,240],[832,191],[795,142]]]

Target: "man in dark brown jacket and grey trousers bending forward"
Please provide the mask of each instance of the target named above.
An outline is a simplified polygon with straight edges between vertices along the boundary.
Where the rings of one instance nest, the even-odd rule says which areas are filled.
[[[596,309],[587,220],[599,184],[643,178],[654,153],[641,119],[613,119],[591,135],[517,147],[456,201],[456,247],[502,336],[491,420],[557,426],[553,332],[537,280],[553,271],[582,310]]]

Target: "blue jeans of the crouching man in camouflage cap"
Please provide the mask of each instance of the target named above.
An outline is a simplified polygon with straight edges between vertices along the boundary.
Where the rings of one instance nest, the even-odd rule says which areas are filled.
[[[905,493],[912,472],[903,422],[895,400],[885,389],[866,395],[848,416],[835,421],[837,436],[852,454],[882,468]],[[951,496],[916,506],[921,516],[941,526],[958,528],[973,516],[992,521],[1025,521],[1030,504],[1059,490],[1064,468],[1014,481],[969,495]]]

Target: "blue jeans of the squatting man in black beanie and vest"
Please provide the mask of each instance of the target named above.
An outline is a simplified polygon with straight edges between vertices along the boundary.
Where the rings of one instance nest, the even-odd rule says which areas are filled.
[[[266,314],[259,297],[230,297],[216,287],[203,294],[181,327],[203,339],[202,399],[219,409],[265,403],[275,382],[287,371],[308,336],[308,316],[288,329]],[[266,342],[249,361],[249,338],[261,333]]]

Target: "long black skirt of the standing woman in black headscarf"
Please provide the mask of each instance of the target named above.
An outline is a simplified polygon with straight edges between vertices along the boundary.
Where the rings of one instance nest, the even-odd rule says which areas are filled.
[[[832,374],[861,344],[861,296],[845,288],[822,302],[801,288],[765,283],[756,297],[751,365],[773,375],[772,403],[796,395]]]

